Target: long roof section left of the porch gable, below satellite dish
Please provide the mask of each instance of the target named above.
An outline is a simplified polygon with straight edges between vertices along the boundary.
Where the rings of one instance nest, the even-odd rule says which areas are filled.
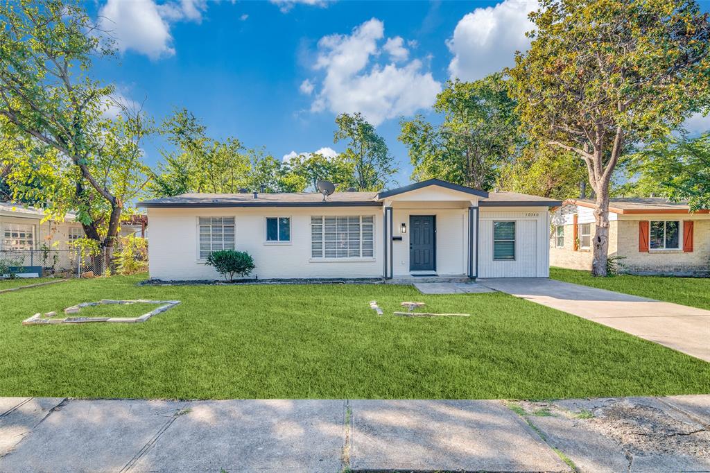
[[[323,202],[316,192],[265,192],[253,194],[181,194],[144,200],[139,207],[361,207],[381,205],[377,192],[333,192]]]

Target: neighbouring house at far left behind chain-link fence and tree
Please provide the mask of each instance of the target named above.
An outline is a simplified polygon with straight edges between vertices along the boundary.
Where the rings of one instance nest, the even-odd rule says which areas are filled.
[[[44,210],[13,202],[0,202],[0,256],[22,259],[22,266],[50,264],[57,269],[75,266],[75,251],[72,241],[84,237],[82,224],[75,215],[68,213],[63,222],[42,222]],[[142,218],[141,218],[142,217]],[[121,225],[121,236],[144,234],[146,217],[136,216],[128,224]],[[43,249],[49,250],[50,261],[43,261]],[[56,262],[55,260],[56,256]],[[48,259],[45,256],[45,259]]]

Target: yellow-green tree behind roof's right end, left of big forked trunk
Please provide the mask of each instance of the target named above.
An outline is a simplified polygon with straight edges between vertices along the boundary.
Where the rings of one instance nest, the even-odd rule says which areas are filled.
[[[570,151],[530,143],[501,168],[498,187],[552,199],[579,197],[586,189],[584,163]]]

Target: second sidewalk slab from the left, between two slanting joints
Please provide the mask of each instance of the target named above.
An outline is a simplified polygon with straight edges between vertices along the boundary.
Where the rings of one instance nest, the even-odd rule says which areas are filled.
[[[119,472],[184,403],[70,401],[0,458],[0,472]]]

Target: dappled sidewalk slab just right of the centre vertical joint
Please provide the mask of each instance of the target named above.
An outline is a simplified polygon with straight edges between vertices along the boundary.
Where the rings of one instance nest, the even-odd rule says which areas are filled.
[[[567,467],[496,401],[351,401],[351,468],[546,471]]]

